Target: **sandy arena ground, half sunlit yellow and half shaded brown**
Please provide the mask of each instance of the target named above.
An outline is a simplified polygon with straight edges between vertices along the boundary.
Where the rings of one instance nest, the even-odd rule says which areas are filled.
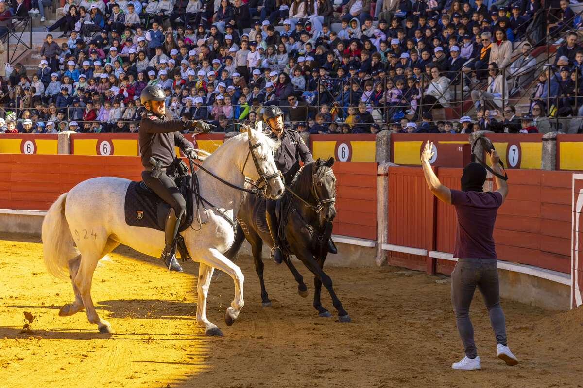
[[[227,328],[233,282],[224,274],[213,280],[208,316],[225,336],[209,338],[194,318],[198,265],[168,273],[156,259],[118,248],[93,279],[97,311],[117,332],[108,337],[84,312],[57,315],[72,301],[72,288],[47,275],[41,252],[37,238],[0,234],[2,388],[583,385],[583,309],[556,313],[503,301],[509,343],[522,361],[509,367],[496,358],[476,293],[472,319],[483,369],[452,371],[463,351],[445,277],[393,267],[329,268],[353,319],[339,323],[317,316],[311,280],[303,299],[287,268],[267,260],[273,307],[262,308],[252,261],[241,257],[245,307]],[[307,279],[307,270],[298,269]]]

